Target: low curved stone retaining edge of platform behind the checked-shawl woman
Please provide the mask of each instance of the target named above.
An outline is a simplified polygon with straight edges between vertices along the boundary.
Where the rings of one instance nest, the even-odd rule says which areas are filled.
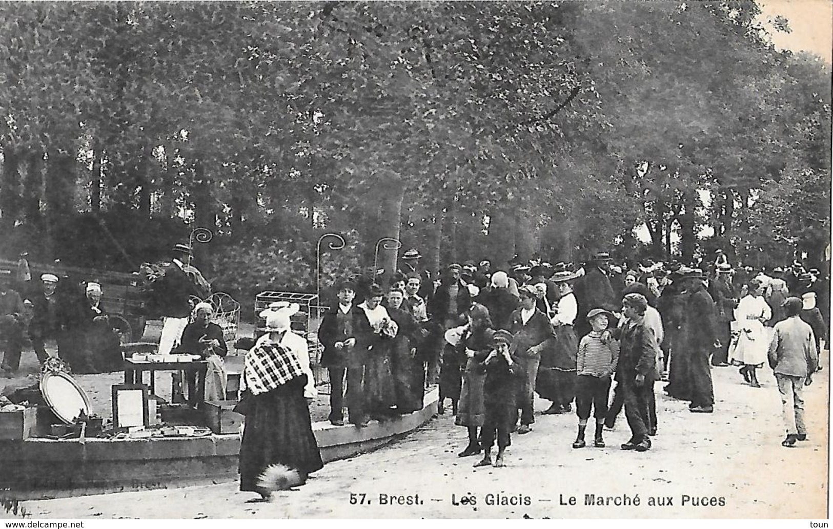
[[[438,397],[434,387],[420,411],[365,428],[313,423],[322,459],[345,459],[402,438],[431,420]],[[23,500],[227,482],[237,479],[239,452],[237,434],[0,441],[0,489]]]

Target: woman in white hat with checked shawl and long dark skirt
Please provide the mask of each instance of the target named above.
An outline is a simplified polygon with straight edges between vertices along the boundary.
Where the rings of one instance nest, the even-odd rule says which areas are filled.
[[[286,465],[304,481],[324,466],[307,404],[316,394],[307,340],[292,333],[285,310],[268,314],[266,327],[268,338],[246,353],[241,377],[247,404],[240,490],[258,492],[263,499],[271,492],[259,486],[258,477],[267,467]]]

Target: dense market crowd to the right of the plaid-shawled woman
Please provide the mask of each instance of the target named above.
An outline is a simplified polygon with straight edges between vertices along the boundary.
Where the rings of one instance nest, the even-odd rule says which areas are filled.
[[[468,434],[459,455],[482,454],[476,466],[492,464],[495,441],[494,464],[502,466],[511,433],[533,430],[535,394],[550,402],[544,415],[575,409],[573,447],[586,447],[591,413],[593,444],[605,446],[604,429],[624,408],[631,439],[621,448],[645,451],[658,428],[657,382],[691,413],[712,413],[711,368],[735,365],[759,388],[757,371],[768,362],[785,418],[788,407],[794,417],[785,446],[806,437],[800,388],[819,368],[830,314],[828,279],[816,269],[797,261],[735,269],[721,251],[690,265],[613,264],[599,253],[581,268],[517,256],[495,269],[489,260],[455,263],[434,280],[420,258],[408,250],[396,274],[374,270],[337,286],[318,331],[333,424],[363,427],[411,413],[438,382],[438,413],[451,404]],[[778,328],[782,321],[801,332]],[[806,348],[795,344],[805,331]],[[800,350],[801,361],[782,358],[785,347],[787,356]],[[796,362],[803,371],[784,368]]]

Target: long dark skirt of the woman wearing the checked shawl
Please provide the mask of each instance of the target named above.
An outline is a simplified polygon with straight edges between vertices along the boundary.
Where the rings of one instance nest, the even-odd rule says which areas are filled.
[[[306,377],[252,396],[240,443],[240,490],[257,491],[257,477],[277,463],[309,474],[324,466],[304,398]]]

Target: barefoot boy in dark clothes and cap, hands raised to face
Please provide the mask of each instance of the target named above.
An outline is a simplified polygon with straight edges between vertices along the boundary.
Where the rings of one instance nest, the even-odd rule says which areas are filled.
[[[475,467],[491,465],[491,446],[497,435],[497,458],[495,467],[503,466],[503,451],[509,444],[509,433],[517,421],[517,392],[519,377],[523,369],[509,354],[512,334],[504,329],[496,330],[492,336],[494,349],[486,359],[476,365],[477,373],[486,373],[483,383],[483,404],[486,408],[481,446],[483,458]]]

